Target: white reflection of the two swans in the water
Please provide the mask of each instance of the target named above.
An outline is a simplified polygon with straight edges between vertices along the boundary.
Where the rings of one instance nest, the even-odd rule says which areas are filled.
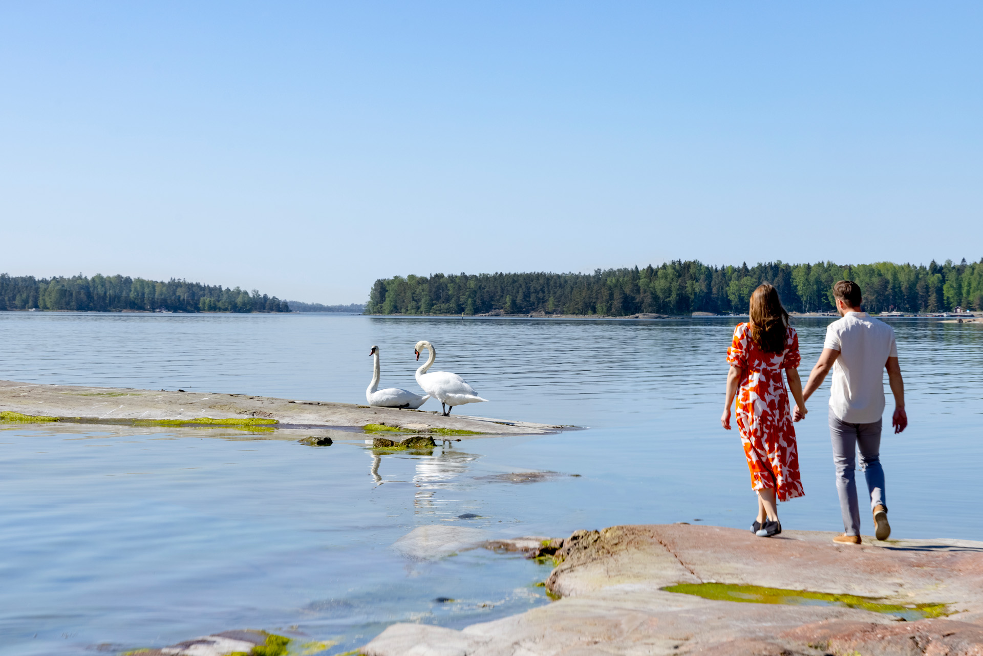
[[[369,452],[372,455],[369,474],[373,477],[376,487],[378,487],[388,482],[378,473],[379,466],[382,463],[382,453],[376,450]],[[390,457],[393,456],[399,457],[400,459],[412,458],[416,460],[416,472],[413,475],[413,484],[416,487],[416,492],[413,495],[413,506],[416,512],[425,514],[439,513],[440,509],[448,503],[465,501],[462,499],[447,498],[437,500],[434,499],[434,496],[441,490],[445,492],[460,490],[460,479],[467,473],[468,464],[481,457],[475,453],[454,450],[448,444],[435,448],[432,454],[417,452],[404,455],[402,453],[393,453]]]

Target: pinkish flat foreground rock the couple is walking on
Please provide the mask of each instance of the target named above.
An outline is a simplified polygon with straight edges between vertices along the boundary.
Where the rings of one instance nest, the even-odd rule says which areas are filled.
[[[362,652],[983,656],[983,542],[865,537],[854,546],[834,544],[834,535],[786,530],[762,539],[746,530],[683,524],[577,531],[549,544],[558,565],[547,587],[562,596],[558,601],[463,630],[389,626]],[[542,544],[515,541],[515,548],[540,554],[537,540]],[[903,622],[845,607],[714,601],[662,589],[711,582],[948,604],[951,615]]]

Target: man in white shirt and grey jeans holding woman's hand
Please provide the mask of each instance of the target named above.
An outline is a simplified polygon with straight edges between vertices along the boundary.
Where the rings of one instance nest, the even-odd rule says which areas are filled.
[[[840,280],[833,285],[837,310],[842,319],[826,328],[826,343],[819,361],[809,375],[802,395],[806,400],[823,385],[833,369],[830,393],[830,437],[833,461],[837,465],[839,509],[844,533],[833,538],[841,544],[860,544],[860,509],[854,480],[856,449],[860,449],[860,468],[867,479],[870,505],[874,511],[874,531],[878,540],[891,535],[888,505],[881,467],[881,415],[884,414],[884,370],[888,370],[895,395],[892,426],[900,433],[908,425],[904,412],[904,382],[897,366],[895,329],[860,309],[860,285]],[[796,420],[801,416],[796,417]]]

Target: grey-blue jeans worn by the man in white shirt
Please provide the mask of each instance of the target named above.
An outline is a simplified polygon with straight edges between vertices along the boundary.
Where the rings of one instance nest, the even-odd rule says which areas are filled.
[[[846,535],[860,535],[860,507],[854,479],[856,451],[860,449],[860,469],[867,479],[870,507],[888,508],[884,495],[884,468],[881,467],[881,420],[870,424],[848,424],[830,411],[830,437],[833,462],[837,465],[839,510]]]

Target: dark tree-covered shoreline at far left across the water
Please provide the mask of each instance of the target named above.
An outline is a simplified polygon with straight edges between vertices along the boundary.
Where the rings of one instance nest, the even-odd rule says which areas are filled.
[[[35,278],[0,273],[0,310],[169,310],[171,312],[290,312],[286,301],[236,287],[167,282],[123,275]]]

